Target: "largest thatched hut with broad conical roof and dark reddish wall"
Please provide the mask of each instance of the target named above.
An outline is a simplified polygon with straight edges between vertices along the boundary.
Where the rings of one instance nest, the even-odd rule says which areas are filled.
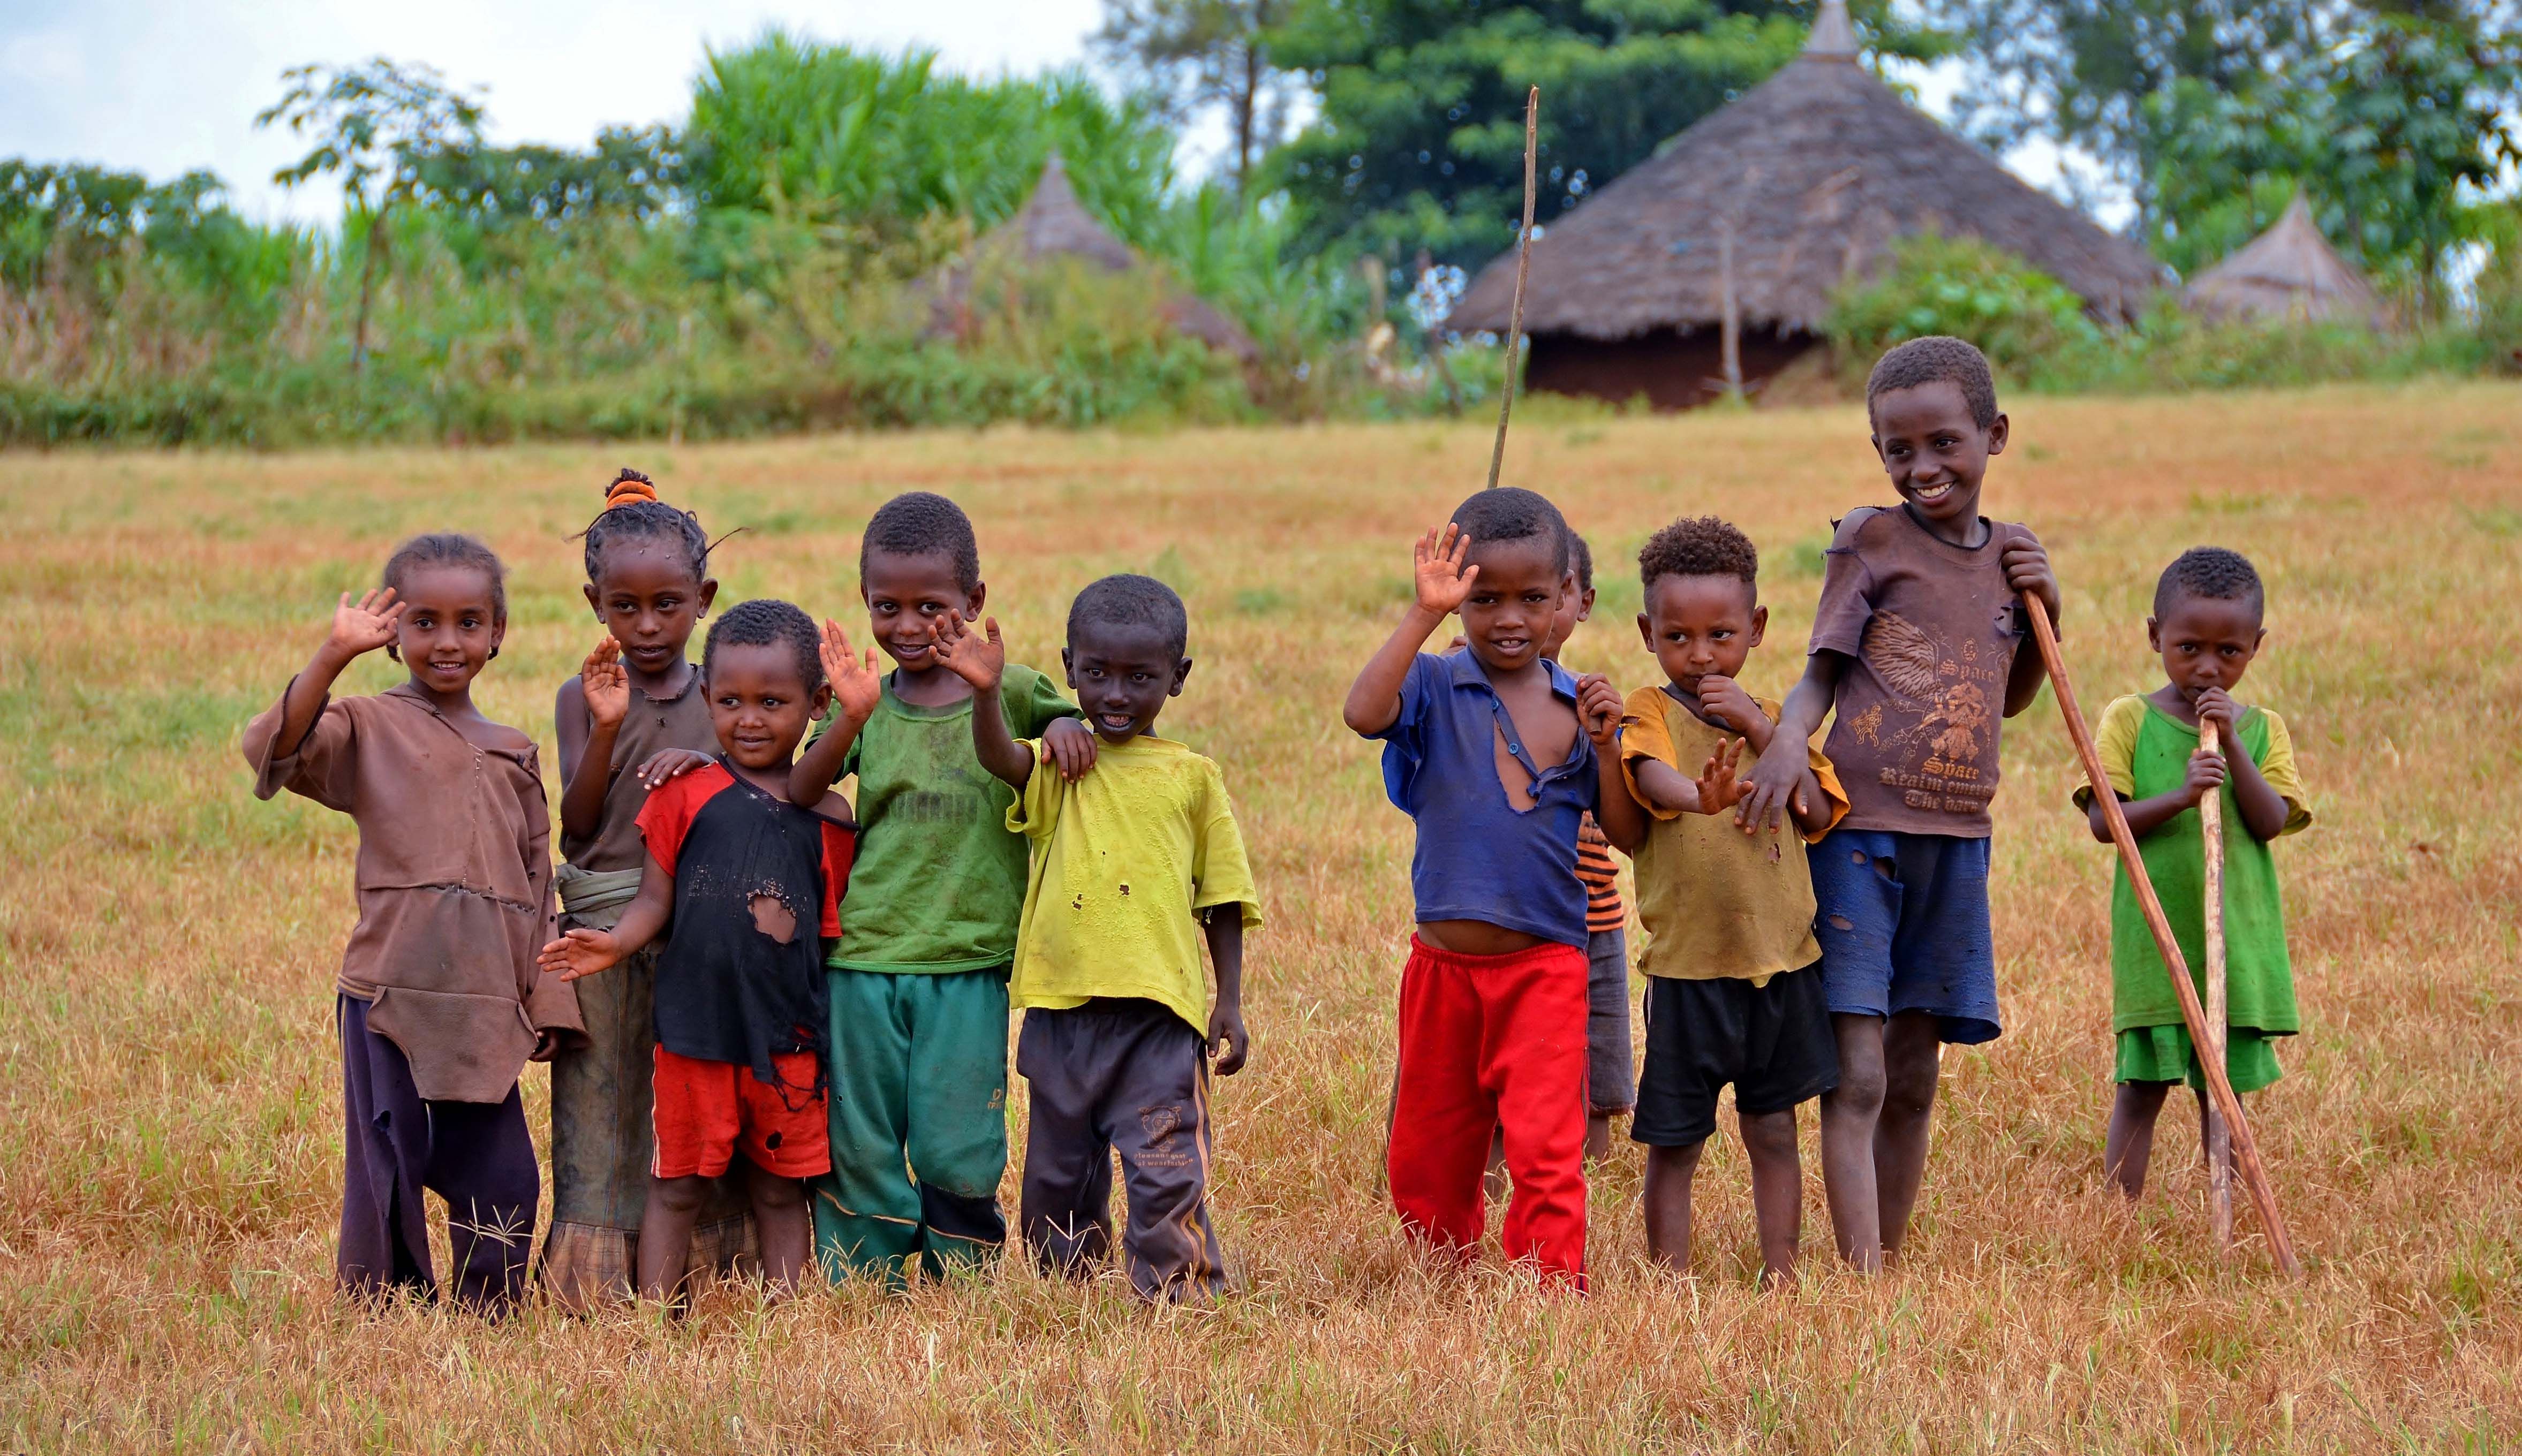
[[[2018,252],[2103,318],[2134,318],[2161,283],[2144,250],[1902,103],[1856,63],[1846,3],[1823,0],[1803,56],[1533,242],[1523,379],[1657,409],[1728,373],[1758,386],[1816,343],[1844,280],[1924,230]],[[1448,328],[1506,333],[1513,293],[1508,252]]]

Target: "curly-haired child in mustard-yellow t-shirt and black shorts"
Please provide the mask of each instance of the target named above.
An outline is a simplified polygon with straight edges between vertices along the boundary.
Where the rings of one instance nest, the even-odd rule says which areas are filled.
[[[1637,631],[1667,681],[1629,694],[1601,828],[1637,858],[1647,929],[1647,1070],[1629,1123],[1647,1143],[1647,1252],[1690,1267],[1690,1178],[1733,1083],[1760,1279],[1773,1282],[1793,1274],[1803,1236],[1796,1108],[1839,1085],[1803,845],[1849,813],[1849,797],[1821,752],[1775,737],[1778,704],[1738,681],[1768,628],[1750,540],[1712,515],[1677,520],[1647,537],[1637,568],[1647,588]],[[1743,797],[1735,775],[1770,752],[1803,760],[1798,838],[1715,818]]]

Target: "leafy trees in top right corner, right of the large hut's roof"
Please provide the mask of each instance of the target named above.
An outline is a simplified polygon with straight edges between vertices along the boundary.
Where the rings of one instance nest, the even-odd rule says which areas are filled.
[[[1929,15],[1967,38],[1967,129],[2091,154],[2182,265],[2318,177],[2323,222],[2356,217],[2353,252],[2431,275],[2454,194],[2477,164],[2494,172],[2522,103],[2514,0],[1932,0]]]

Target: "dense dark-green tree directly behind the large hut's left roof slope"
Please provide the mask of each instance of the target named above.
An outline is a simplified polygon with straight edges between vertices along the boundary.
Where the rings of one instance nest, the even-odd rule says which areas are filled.
[[[1549,222],[1788,63],[1811,18],[1811,0],[1301,0],[1269,56],[1306,73],[1322,111],[1269,182],[1314,247],[1470,267],[1516,237],[1528,86]],[[1856,18],[1876,53],[1942,50],[1889,0]]]

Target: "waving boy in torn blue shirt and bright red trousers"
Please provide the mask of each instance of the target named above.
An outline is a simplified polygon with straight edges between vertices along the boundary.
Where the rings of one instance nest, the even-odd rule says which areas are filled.
[[[1402,969],[1387,1171],[1402,1226],[1468,1254],[1503,1130],[1506,1257],[1584,1287],[1586,896],[1576,825],[1601,795],[1619,694],[1541,656],[1576,590],[1569,527],[1528,490],[1483,490],[1415,555],[1417,598],[1357,674],[1349,729],[1385,744],[1417,820],[1417,934]],[[1468,651],[1420,651],[1463,613]],[[1617,772],[1617,770],[1614,770]]]

